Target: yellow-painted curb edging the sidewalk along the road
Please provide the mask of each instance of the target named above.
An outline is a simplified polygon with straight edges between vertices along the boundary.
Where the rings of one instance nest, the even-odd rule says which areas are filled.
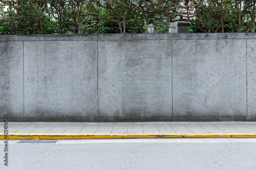
[[[256,133],[140,133],[140,134],[90,134],[90,133],[11,133],[6,136],[0,134],[0,140],[18,139],[121,139],[121,138],[249,138],[256,137]]]

